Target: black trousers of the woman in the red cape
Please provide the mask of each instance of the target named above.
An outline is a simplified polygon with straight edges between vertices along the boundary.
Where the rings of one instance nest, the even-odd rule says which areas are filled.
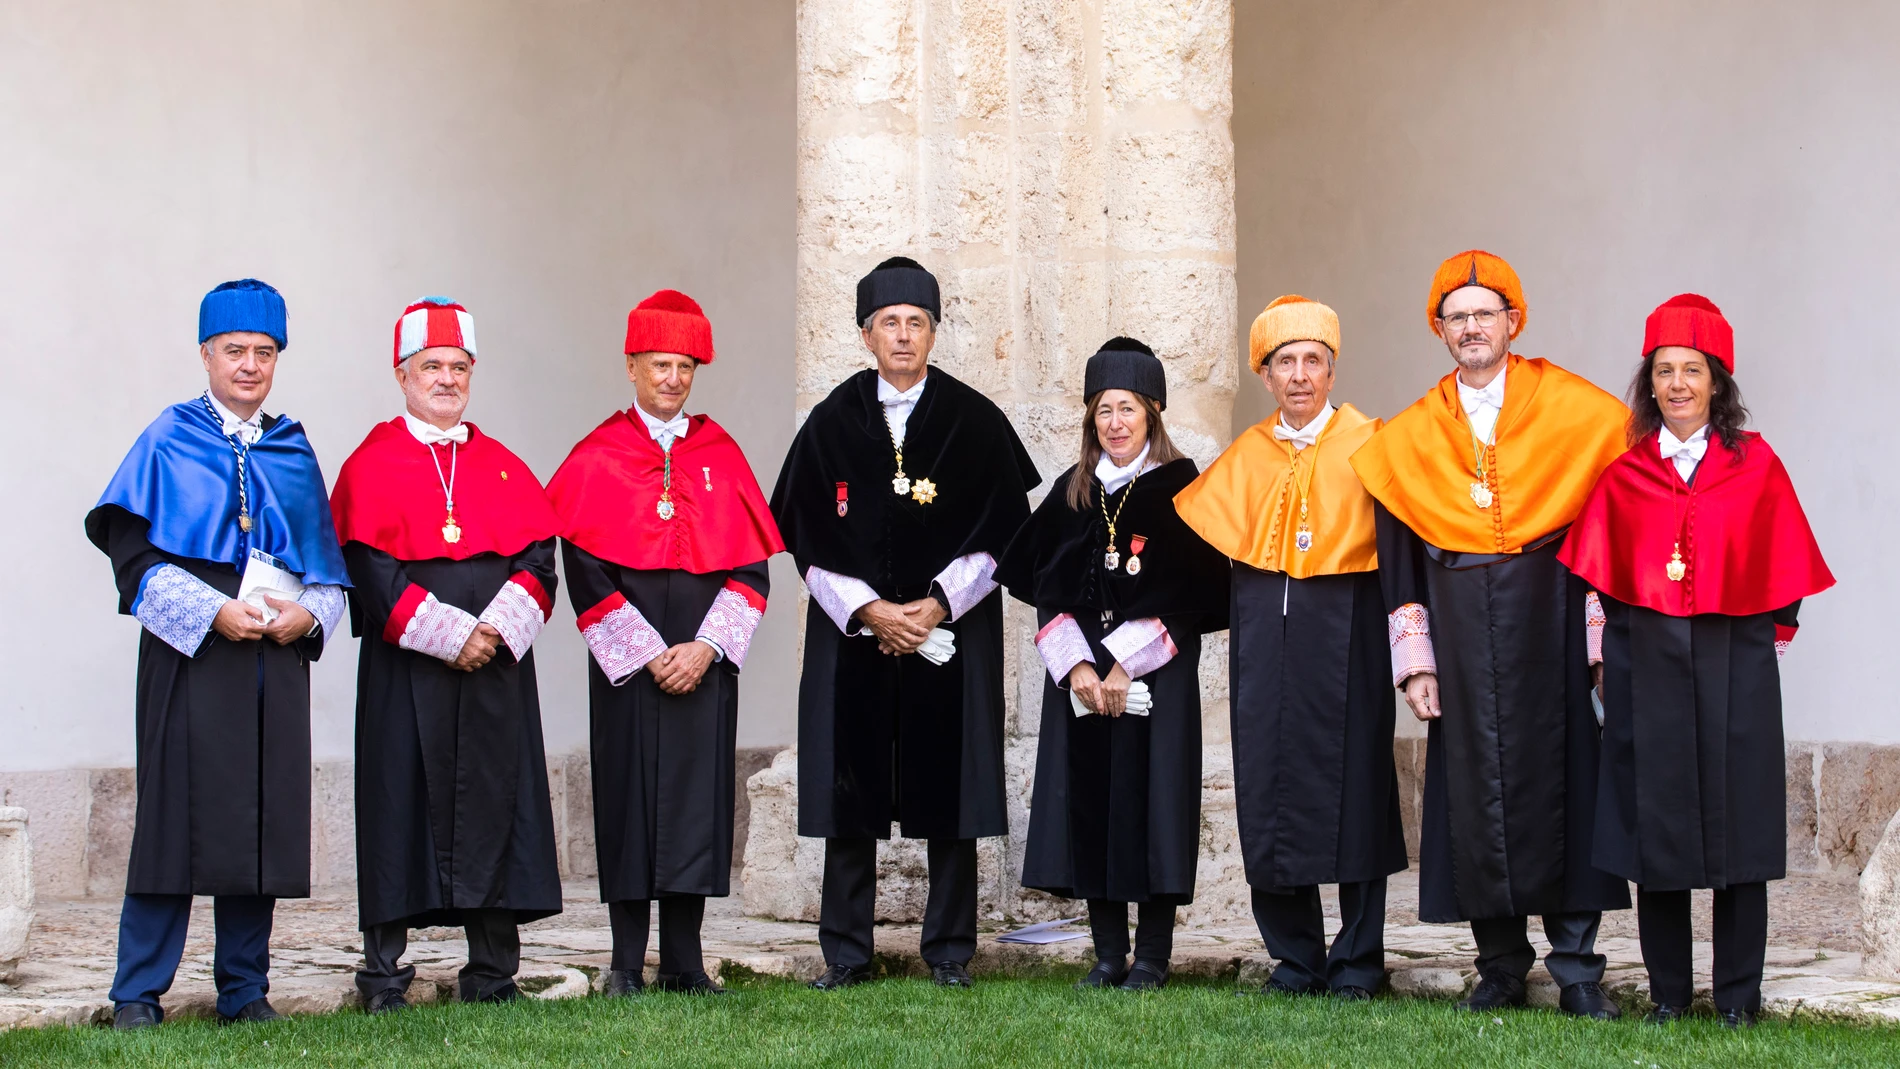
[[[1649,999],[1685,1008],[1695,999],[1687,891],[1636,889],[1636,930],[1649,968]],[[1769,951],[1769,885],[1737,883],[1716,891],[1718,1010],[1761,1012],[1761,963]]]

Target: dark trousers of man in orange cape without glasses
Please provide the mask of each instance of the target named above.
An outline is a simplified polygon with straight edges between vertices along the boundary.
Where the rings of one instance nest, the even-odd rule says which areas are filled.
[[[1385,877],[1340,885],[1340,934],[1326,947],[1319,887],[1286,892],[1254,889],[1254,923],[1279,965],[1273,978],[1309,991],[1385,982]]]

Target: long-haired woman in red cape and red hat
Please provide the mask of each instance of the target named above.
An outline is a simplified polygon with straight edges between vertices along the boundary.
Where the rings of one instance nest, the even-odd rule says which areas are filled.
[[[1714,1001],[1761,1010],[1767,881],[1786,875],[1780,655],[1801,598],[1834,585],[1780,458],[1742,431],[1729,321],[1674,296],[1644,336],[1630,452],[1611,463],[1560,560],[1596,592],[1604,706],[1592,864],[1638,885],[1649,1020],[1695,995],[1689,891],[1716,891]]]

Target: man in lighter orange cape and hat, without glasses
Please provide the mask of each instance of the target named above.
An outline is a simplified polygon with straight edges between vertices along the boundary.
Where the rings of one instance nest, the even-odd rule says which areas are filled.
[[[1406,868],[1372,497],[1349,458],[1379,422],[1330,403],[1340,317],[1282,296],[1250,365],[1279,403],[1174,507],[1233,558],[1233,786],[1267,991],[1370,999],[1385,877]],[[1319,885],[1340,885],[1326,947]]]

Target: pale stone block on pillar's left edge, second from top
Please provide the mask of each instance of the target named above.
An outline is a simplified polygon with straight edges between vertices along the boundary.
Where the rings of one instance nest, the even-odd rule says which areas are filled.
[[[800,251],[885,256],[893,247],[914,245],[916,152],[916,139],[889,131],[802,139]]]

